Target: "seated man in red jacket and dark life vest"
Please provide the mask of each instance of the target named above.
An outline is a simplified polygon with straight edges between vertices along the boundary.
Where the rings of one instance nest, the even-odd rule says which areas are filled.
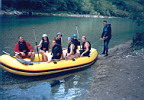
[[[15,56],[17,58],[31,58],[31,61],[33,61],[35,53],[32,45],[25,41],[23,36],[19,36],[18,40],[14,46]]]

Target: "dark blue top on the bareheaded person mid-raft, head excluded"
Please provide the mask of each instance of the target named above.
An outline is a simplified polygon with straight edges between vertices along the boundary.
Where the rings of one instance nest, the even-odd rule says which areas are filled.
[[[60,59],[62,55],[62,47],[59,44],[56,44],[52,48],[52,59]]]

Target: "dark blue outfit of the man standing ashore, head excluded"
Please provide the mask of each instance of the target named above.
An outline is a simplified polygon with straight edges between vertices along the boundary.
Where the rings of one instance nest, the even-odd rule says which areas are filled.
[[[104,28],[103,28],[103,33],[101,35],[101,38],[103,37],[107,37],[106,40],[104,40],[104,50],[103,50],[103,54],[108,55],[108,44],[109,41],[112,37],[111,35],[111,24],[107,24]]]

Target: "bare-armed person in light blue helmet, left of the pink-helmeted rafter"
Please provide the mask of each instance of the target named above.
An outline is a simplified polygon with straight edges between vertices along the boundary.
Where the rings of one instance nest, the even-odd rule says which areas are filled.
[[[72,42],[72,38],[68,37],[68,48],[65,59],[73,59],[76,57],[76,47]]]

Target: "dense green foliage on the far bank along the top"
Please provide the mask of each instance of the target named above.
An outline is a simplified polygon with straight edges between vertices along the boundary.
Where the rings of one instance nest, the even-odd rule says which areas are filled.
[[[130,17],[144,23],[144,0],[2,0],[2,9]]]

